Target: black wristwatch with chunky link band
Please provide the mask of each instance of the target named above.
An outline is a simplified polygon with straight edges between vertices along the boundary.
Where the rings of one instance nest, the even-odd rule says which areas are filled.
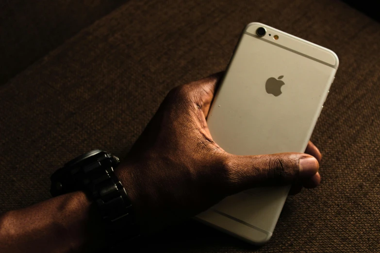
[[[139,236],[131,200],[114,173],[118,164],[119,158],[96,149],[67,162],[50,177],[53,197],[83,190],[96,203],[108,247]]]

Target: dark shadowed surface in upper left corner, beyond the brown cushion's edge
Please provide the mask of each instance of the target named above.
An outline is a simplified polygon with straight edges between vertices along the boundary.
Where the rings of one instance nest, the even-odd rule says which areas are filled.
[[[126,0],[0,0],[0,85]]]

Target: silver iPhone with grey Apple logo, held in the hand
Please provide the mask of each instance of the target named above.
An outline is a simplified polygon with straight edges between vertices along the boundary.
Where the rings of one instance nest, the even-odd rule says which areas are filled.
[[[264,36],[256,33],[260,27]],[[337,67],[338,58],[329,49],[264,24],[249,24],[207,119],[214,141],[235,155],[303,153]],[[247,190],[197,218],[262,244],[272,236],[289,189]]]

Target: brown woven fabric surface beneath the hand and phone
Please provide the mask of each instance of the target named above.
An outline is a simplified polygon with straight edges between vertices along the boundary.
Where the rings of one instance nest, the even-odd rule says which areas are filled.
[[[259,21],[335,51],[314,129],[322,184],[287,199],[254,247],[196,221],[137,252],[380,252],[380,24],[336,0],[131,0],[0,86],[0,212],[48,199],[49,176],[100,148],[123,156],[174,86],[225,69]]]

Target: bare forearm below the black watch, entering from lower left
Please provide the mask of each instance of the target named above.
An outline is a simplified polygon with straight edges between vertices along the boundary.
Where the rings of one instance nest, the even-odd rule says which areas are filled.
[[[0,252],[92,252],[104,243],[100,224],[83,192],[65,194],[0,216]]]

